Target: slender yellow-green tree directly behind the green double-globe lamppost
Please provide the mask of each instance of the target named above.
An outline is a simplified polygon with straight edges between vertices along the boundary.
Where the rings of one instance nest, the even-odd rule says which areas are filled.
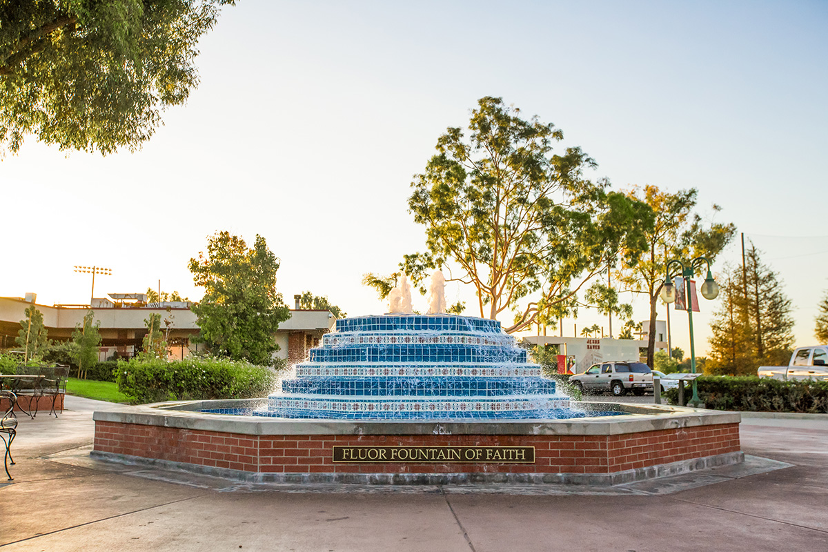
[[[650,328],[647,332],[647,366],[653,366],[656,348],[656,306],[670,259],[689,260],[707,257],[713,262],[733,238],[732,223],[710,223],[705,226],[696,208],[696,189],[671,194],[657,186],[647,185],[628,192],[630,198],[643,201],[655,215],[654,223],[644,230],[647,252],[640,259],[624,259],[616,275],[628,290],[647,295],[650,304]],[[720,210],[713,206],[714,211]]]

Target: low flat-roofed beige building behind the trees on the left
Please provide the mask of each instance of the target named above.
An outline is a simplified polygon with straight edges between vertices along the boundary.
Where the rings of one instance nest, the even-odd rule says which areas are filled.
[[[193,343],[199,333],[197,319],[189,303],[165,302],[147,305],[144,294],[109,294],[109,298],[92,300],[94,320],[100,322],[101,346],[99,359],[130,358],[142,348],[147,335],[145,320],[151,314],[161,316],[161,329],[166,333],[171,358],[185,358],[204,345]],[[26,298],[0,297],[0,348],[13,348],[26,319],[26,309],[35,303],[36,295]],[[87,305],[36,305],[43,314],[49,338],[65,341],[72,338],[75,327],[83,324]],[[335,317],[328,310],[291,310],[291,318],[279,324],[273,336],[279,345],[277,357],[289,362],[301,361],[307,350],[320,342],[323,334],[334,327]]]

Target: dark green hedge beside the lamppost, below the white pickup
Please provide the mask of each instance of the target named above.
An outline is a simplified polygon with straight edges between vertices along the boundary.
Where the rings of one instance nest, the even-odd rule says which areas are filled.
[[[712,410],[748,412],[828,412],[828,382],[780,382],[756,376],[702,376],[698,380],[699,398]],[[685,386],[685,400],[691,397]],[[678,390],[664,395],[678,404]]]

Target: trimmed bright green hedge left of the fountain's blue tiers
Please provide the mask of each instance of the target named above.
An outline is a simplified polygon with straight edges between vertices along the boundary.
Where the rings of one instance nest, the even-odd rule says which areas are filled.
[[[266,397],[277,372],[228,358],[118,361],[118,390],[133,403]]]

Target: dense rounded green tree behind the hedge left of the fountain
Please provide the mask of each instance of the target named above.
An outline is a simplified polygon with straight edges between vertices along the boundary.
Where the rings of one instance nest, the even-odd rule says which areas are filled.
[[[199,338],[214,354],[269,366],[279,346],[273,334],[290,318],[276,290],[279,259],[256,236],[253,247],[219,232],[208,238],[207,253],[190,259],[190,272],[205,295],[192,306]]]

